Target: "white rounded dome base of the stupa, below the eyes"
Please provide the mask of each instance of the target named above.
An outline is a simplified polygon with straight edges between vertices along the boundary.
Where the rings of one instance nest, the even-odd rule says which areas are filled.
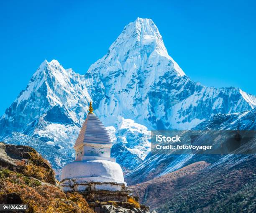
[[[60,185],[64,192],[121,191],[126,183],[123,180],[123,171],[118,163],[101,159],[67,163],[62,168]]]

